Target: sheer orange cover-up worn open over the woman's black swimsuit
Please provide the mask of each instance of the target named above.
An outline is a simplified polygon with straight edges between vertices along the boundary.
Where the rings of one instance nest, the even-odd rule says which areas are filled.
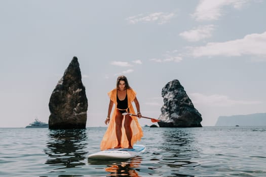
[[[108,96],[110,97],[110,100],[115,103],[115,108],[117,109],[117,89],[113,89],[112,91],[108,92]],[[129,107],[129,113],[135,114],[135,111],[133,109],[132,102],[136,98],[136,92],[133,89],[127,90],[127,96],[128,96],[128,107]],[[116,135],[116,113],[117,111],[113,110],[112,116],[110,118],[109,126],[107,127],[107,130],[102,138],[101,142],[101,150],[105,149],[111,149],[118,145],[117,135]],[[129,146],[128,139],[126,136],[126,131],[124,127],[125,122],[125,116],[122,121],[122,139],[121,139],[121,147],[127,148]],[[131,139],[131,145],[133,146],[134,143],[141,140],[141,137],[143,136],[143,131],[141,126],[138,123],[138,118],[136,116],[132,116],[132,122],[130,124],[130,127],[132,129],[132,139]]]

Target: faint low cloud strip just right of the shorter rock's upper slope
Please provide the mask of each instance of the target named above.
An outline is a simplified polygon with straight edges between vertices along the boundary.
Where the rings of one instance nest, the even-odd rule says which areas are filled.
[[[208,106],[220,106],[220,107],[231,107],[235,105],[256,105],[261,104],[260,101],[243,101],[243,100],[233,100],[228,96],[224,95],[203,95],[199,93],[189,94],[193,103],[204,104]]]

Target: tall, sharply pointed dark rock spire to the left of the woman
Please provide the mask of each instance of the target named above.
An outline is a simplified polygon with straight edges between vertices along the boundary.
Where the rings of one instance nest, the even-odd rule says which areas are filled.
[[[49,128],[86,128],[88,100],[77,57],[73,57],[58,81],[49,109]]]

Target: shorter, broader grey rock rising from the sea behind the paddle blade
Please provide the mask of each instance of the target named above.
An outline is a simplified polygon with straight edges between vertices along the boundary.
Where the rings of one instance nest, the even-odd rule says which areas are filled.
[[[177,79],[168,82],[162,89],[164,106],[158,122],[160,127],[202,127],[202,117],[188,98],[184,87]]]

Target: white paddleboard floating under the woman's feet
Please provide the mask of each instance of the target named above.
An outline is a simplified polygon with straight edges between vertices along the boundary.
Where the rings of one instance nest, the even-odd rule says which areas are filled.
[[[88,156],[89,159],[129,159],[140,155],[145,151],[143,145],[133,145],[133,149],[119,148],[119,149],[107,149],[104,151],[96,152]]]

